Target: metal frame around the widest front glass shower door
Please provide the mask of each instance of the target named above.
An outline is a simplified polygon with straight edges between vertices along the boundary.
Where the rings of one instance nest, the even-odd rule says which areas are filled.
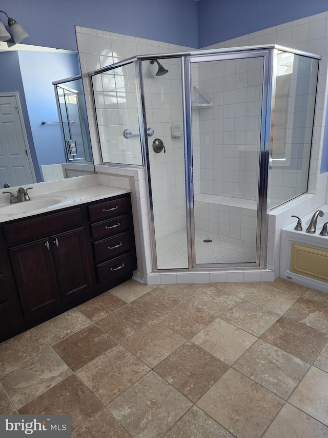
[[[186,208],[189,269],[244,269],[245,267],[264,268],[267,253],[267,191],[270,144],[272,141],[272,101],[275,81],[274,59],[276,50],[259,49],[252,51],[233,51],[223,54],[190,55],[181,57],[183,88],[183,122],[185,132],[185,171],[186,171]],[[194,193],[193,193],[193,147],[191,116],[191,74],[192,63],[224,61],[242,58],[263,58],[263,88],[260,128],[259,181],[257,202],[256,261],[251,263],[196,263]]]

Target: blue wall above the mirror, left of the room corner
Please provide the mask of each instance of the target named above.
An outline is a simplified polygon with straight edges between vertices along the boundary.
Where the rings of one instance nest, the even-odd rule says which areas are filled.
[[[30,34],[24,43],[36,46],[77,50],[77,25],[198,47],[194,0],[2,0],[1,9]]]

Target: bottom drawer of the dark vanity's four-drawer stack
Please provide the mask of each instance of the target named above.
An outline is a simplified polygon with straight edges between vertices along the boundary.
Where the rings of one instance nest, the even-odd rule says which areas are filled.
[[[124,254],[97,265],[99,283],[106,283],[136,269],[134,253]]]

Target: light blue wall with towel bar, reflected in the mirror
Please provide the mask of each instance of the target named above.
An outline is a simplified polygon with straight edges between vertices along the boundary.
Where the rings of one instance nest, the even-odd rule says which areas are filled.
[[[18,52],[26,105],[38,164],[65,163],[63,138],[58,121],[52,82],[79,74],[76,53]]]

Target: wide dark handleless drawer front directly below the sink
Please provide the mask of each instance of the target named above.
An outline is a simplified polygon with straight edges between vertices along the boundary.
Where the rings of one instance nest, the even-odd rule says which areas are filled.
[[[12,225],[4,225],[7,243],[15,243],[21,240],[32,240],[43,235],[53,234],[58,230],[79,225],[82,222],[79,208],[60,212],[53,215],[20,221]]]

